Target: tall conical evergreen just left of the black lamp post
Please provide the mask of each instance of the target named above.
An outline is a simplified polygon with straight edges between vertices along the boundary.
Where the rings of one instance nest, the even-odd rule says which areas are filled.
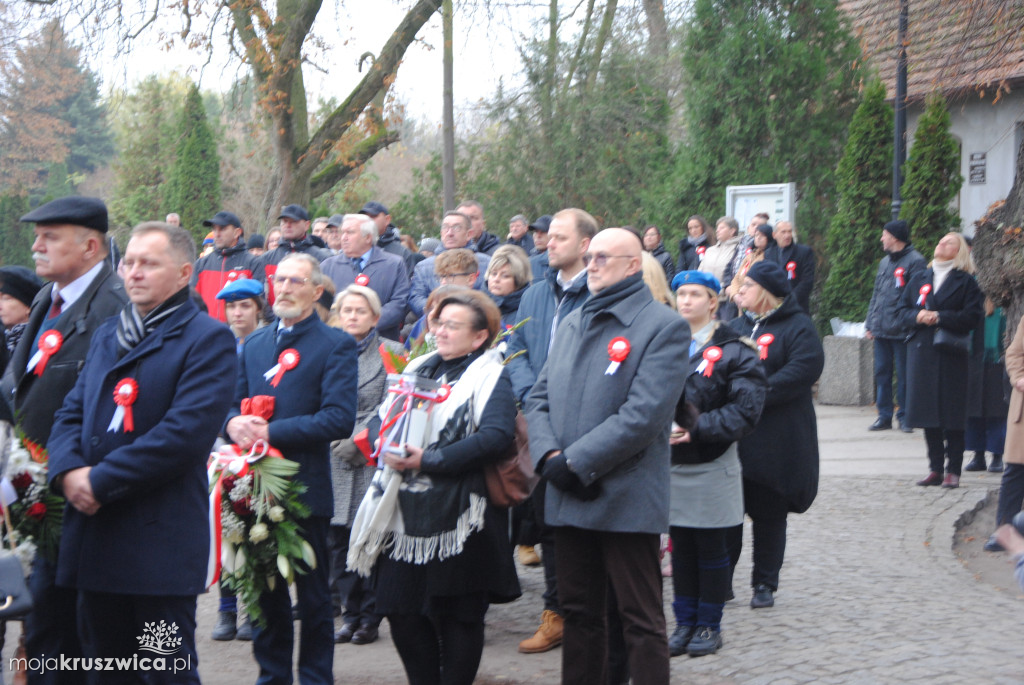
[[[839,202],[825,234],[829,267],[818,309],[822,322],[867,316],[882,258],[879,236],[892,202],[893,111],[885,98],[881,81],[864,88],[836,172]]]

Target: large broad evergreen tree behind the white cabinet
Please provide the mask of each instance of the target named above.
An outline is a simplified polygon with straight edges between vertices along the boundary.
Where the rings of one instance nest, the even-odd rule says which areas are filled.
[[[859,54],[836,0],[696,0],[682,57],[687,141],[659,220],[680,231],[690,214],[720,215],[726,185],[792,181],[801,234],[820,234]]]

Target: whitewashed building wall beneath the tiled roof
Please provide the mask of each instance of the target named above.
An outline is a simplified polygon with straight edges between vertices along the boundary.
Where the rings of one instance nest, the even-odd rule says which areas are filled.
[[[907,131],[910,140],[908,156],[913,155],[913,131],[923,112],[923,104],[907,110]],[[950,132],[961,142],[961,186],[958,203],[962,227],[974,234],[974,222],[984,216],[992,203],[1005,200],[1014,183],[1017,149],[1024,135],[1024,92],[1006,93],[992,103],[990,97],[969,96],[966,102],[950,106]],[[984,183],[971,182],[971,155],[985,155]]]

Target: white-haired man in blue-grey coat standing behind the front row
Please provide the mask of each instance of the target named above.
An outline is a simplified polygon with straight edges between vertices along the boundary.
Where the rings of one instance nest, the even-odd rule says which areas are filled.
[[[409,310],[409,274],[406,262],[377,246],[377,225],[364,214],[346,214],[341,220],[341,254],[324,261],[324,273],[338,292],[353,283],[371,288],[381,301],[377,332],[397,340]]]

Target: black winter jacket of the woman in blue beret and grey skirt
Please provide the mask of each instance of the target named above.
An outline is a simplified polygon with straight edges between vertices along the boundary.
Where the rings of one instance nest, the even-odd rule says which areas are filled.
[[[701,362],[712,348],[722,356],[707,376],[710,362],[703,368]],[[692,441],[672,446],[673,464],[700,464],[725,454],[754,430],[768,390],[754,343],[728,324],[719,325],[708,344],[690,357],[689,367],[676,423],[690,432]]]

